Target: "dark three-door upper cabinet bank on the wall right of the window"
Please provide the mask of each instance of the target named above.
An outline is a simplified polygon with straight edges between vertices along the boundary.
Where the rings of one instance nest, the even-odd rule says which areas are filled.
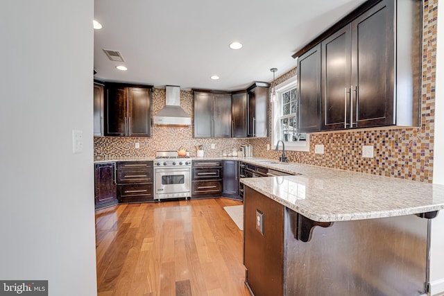
[[[300,130],[419,125],[420,1],[367,2],[373,6],[352,12],[345,17],[348,22],[339,22],[341,28],[330,29],[300,55]],[[317,98],[305,89],[319,87],[307,67],[311,51],[321,53],[320,128],[312,122],[317,111],[305,112],[303,105],[314,105]]]

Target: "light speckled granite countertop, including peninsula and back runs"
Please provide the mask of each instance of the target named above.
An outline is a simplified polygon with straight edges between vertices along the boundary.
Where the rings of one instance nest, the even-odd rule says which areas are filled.
[[[151,161],[155,157],[94,159],[94,163]],[[278,162],[257,157],[191,157],[232,159],[295,174],[242,178],[241,182],[285,207],[319,222],[363,220],[444,209],[444,185],[365,173]]]

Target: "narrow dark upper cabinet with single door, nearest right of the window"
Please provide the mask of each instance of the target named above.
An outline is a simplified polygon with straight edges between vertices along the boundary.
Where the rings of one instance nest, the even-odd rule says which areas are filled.
[[[298,58],[298,132],[321,130],[321,44]]]

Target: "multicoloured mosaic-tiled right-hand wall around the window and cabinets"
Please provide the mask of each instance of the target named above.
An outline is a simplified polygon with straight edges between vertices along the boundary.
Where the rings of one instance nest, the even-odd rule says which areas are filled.
[[[438,1],[425,0],[422,3],[422,55],[418,52],[418,56],[422,56],[420,128],[311,133],[309,152],[286,152],[290,162],[432,182]],[[278,78],[275,85],[295,75],[296,69],[293,69]],[[251,139],[250,143],[255,157],[278,159],[282,153],[266,150],[271,138]],[[325,154],[314,153],[317,144],[325,146]],[[362,157],[364,145],[374,147],[373,158]]]

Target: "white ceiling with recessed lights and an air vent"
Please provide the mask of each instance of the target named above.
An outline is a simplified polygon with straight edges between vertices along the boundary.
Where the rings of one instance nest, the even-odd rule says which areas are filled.
[[[296,67],[291,55],[364,0],[95,0],[96,78],[182,89],[245,89]],[[228,47],[233,41],[240,50]],[[120,51],[121,62],[102,49]],[[217,75],[219,80],[211,80]]]

